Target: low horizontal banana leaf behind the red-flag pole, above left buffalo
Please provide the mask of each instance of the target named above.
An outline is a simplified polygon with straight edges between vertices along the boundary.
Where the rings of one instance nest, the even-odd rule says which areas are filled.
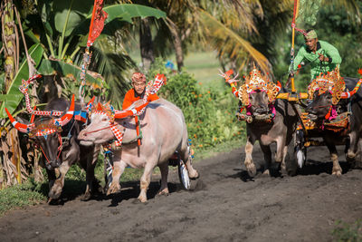
[[[72,75],[74,79],[79,79],[81,76],[81,67],[71,63],[64,63],[63,61],[57,59],[43,59],[38,70],[39,73],[42,73],[43,75],[60,73],[62,76]],[[103,78],[95,78],[90,73],[86,73],[86,80],[87,82],[97,84],[100,87],[104,87],[106,85],[106,83],[103,82]]]

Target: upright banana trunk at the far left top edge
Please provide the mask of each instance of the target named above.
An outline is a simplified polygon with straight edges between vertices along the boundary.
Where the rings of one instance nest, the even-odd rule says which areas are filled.
[[[13,1],[5,0],[1,16],[3,26],[3,44],[5,47],[5,92],[9,89],[15,76],[16,42]]]

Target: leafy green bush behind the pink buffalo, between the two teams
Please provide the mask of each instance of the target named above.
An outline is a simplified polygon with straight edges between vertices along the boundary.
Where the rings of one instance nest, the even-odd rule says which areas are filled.
[[[189,73],[174,73],[157,60],[149,77],[156,73],[167,75],[167,85],[159,95],[178,106],[185,115],[188,136],[198,148],[214,147],[226,140],[238,140],[244,130],[243,122],[236,120],[237,100],[226,87],[223,90],[204,90]]]

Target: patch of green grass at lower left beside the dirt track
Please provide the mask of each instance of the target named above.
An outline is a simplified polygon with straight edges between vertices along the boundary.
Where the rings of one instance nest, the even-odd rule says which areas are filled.
[[[28,179],[24,184],[0,190],[0,216],[5,211],[39,204],[45,199],[42,184]]]

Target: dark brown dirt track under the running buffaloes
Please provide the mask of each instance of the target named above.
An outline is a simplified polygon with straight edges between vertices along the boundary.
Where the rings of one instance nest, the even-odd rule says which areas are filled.
[[[180,190],[170,174],[167,197],[155,197],[154,176],[147,204],[135,202],[134,182],[113,198],[9,212],[0,241],[330,241],[335,221],[362,218],[362,170],[341,162],[342,177],[330,175],[326,148],[310,149],[296,177],[245,180],[242,158],[238,149],[195,163],[194,191]],[[253,158],[262,160],[259,149]]]

